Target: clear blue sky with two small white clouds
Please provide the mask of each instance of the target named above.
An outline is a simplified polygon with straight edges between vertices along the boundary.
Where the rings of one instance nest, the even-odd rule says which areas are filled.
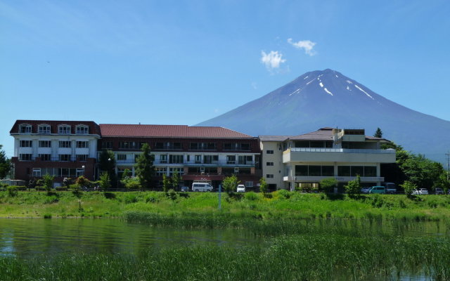
[[[0,0],[0,144],[16,119],[198,124],[331,68],[450,120],[450,1]]]

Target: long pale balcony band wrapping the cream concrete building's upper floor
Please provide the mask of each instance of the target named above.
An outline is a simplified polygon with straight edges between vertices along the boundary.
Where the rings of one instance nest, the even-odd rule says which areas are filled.
[[[395,162],[395,150],[290,148],[283,152],[283,163],[288,162],[393,163]]]

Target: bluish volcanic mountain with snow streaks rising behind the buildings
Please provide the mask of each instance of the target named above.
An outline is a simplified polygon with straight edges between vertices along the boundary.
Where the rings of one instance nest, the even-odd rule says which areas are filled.
[[[224,126],[260,135],[292,135],[321,127],[377,127],[406,150],[444,163],[450,122],[411,110],[335,70],[312,71],[271,93],[197,126]]]

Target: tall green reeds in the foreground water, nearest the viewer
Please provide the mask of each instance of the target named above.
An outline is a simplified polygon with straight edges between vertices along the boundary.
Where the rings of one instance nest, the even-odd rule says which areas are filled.
[[[1,280],[449,280],[440,237],[282,235],[269,247],[195,246],[127,254],[0,256]]]

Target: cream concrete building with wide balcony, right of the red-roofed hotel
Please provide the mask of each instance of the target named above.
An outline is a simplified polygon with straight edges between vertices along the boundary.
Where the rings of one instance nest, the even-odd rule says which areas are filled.
[[[380,185],[380,164],[395,162],[394,150],[381,149],[384,138],[364,129],[322,128],[300,136],[259,136],[263,174],[269,188],[316,188],[323,178],[344,185],[361,176],[363,185]]]

